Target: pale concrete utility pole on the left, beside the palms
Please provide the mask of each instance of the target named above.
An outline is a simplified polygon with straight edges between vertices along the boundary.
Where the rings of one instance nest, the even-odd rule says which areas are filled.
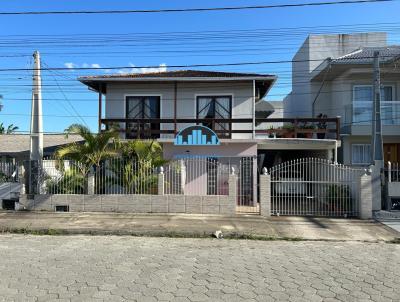
[[[42,79],[40,76],[40,54],[33,53],[33,86],[30,131],[30,160],[43,158],[43,115],[42,115]]]

